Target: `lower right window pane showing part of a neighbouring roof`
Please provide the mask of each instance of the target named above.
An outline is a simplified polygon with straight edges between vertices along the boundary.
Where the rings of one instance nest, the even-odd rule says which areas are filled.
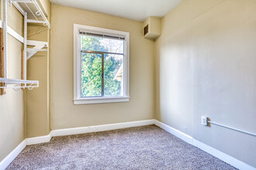
[[[104,56],[104,96],[123,96],[123,55]]]

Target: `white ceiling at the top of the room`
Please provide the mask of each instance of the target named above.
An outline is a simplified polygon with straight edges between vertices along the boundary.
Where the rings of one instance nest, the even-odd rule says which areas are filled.
[[[50,0],[50,2],[144,21],[148,16],[163,17],[182,0]]]

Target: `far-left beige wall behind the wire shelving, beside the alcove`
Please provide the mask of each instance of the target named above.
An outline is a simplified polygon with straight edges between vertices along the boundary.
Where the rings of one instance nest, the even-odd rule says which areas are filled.
[[[22,15],[16,8],[8,8],[9,26],[22,32]],[[12,17],[10,17],[12,15]],[[22,43],[8,36],[9,78],[20,79]],[[7,89],[0,96],[0,162],[25,138],[24,100],[22,90]]]

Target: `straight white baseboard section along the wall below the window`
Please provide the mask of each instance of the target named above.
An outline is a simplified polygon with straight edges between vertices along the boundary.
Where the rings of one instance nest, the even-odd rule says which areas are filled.
[[[67,128],[67,129],[58,129],[52,130],[52,136],[65,136],[71,134],[85,134],[97,131],[109,131],[115,129],[122,129],[122,128],[132,128],[132,127],[139,127],[145,126],[149,124],[154,124],[154,119],[146,120],[146,121],[130,121],[125,123],[118,123],[118,124],[103,124],[97,126],[88,126],[88,127],[81,127],[81,128]]]

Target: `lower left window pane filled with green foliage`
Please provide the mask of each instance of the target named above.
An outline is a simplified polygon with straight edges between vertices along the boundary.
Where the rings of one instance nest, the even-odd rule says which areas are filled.
[[[102,55],[81,53],[81,97],[102,96]]]

